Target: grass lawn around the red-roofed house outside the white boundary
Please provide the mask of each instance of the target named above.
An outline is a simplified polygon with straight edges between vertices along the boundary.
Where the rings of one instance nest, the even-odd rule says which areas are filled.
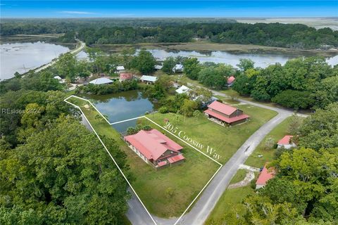
[[[214,153],[220,155],[218,162],[225,164],[254,131],[277,115],[275,111],[252,105],[237,105],[236,107],[250,115],[251,121],[234,127],[223,127],[208,120],[204,115],[199,118],[186,117],[185,120],[182,115],[178,115],[179,120],[175,120],[176,114],[173,113],[155,113],[154,115],[147,115],[147,117],[163,127],[165,126],[164,119],[169,119],[170,124],[177,127],[177,136],[179,131],[184,131],[186,136],[203,145],[200,150],[204,153],[207,153],[207,146],[210,146],[215,150]],[[142,121],[146,120],[142,119]],[[211,157],[213,157],[213,154]]]

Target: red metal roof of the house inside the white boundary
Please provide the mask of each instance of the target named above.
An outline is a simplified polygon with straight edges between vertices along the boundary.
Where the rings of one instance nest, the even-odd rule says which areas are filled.
[[[137,134],[125,136],[125,140],[137,148],[148,160],[157,160],[166,150],[177,152],[183,148],[157,129],[141,130]]]

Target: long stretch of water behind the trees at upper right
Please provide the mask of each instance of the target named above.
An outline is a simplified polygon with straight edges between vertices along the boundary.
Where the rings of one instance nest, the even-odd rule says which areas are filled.
[[[278,51],[262,52],[256,51],[254,53],[235,53],[230,51],[168,51],[165,49],[146,49],[151,52],[157,60],[164,60],[167,57],[183,56],[197,58],[201,63],[213,62],[213,63],[225,63],[237,67],[240,58],[249,58],[255,62],[256,67],[266,68],[268,65],[280,63],[284,65],[287,60],[304,55],[301,53],[282,53]],[[137,49],[139,51],[139,49]],[[313,56],[313,55],[312,55]],[[338,64],[338,56],[327,58],[327,63],[330,65]]]

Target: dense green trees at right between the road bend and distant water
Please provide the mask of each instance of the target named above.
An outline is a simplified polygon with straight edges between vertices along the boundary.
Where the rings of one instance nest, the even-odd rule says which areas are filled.
[[[227,77],[234,76],[232,89],[257,101],[272,101],[287,108],[324,108],[338,101],[338,66],[323,57],[294,58],[255,68],[252,60],[241,59],[238,68],[223,63],[183,61],[184,73],[213,89],[227,89]]]

